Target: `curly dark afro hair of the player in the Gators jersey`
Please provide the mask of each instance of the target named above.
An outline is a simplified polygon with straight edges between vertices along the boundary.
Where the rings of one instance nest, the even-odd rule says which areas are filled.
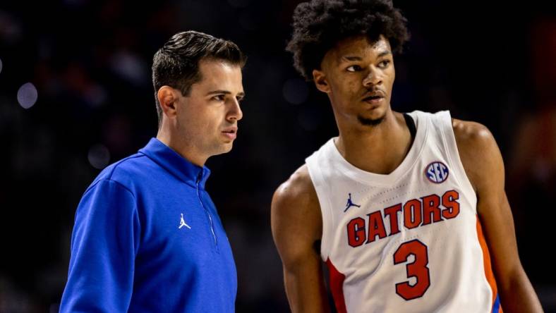
[[[406,18],[390,0],[312,0],[294,11],[294,33],[286,47],[294,66],[306,80],[320,68],[322,58],[337,42],[366,35],[373,42],[383,35],[392,52],[399,53],[409,39]]]

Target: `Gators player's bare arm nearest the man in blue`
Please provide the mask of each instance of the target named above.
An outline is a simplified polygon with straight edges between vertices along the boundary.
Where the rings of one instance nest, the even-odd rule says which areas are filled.
[[[316,247],[322,236],[322,217],[307,166],[274,193],[271,223],[291,312],[330,312]]]

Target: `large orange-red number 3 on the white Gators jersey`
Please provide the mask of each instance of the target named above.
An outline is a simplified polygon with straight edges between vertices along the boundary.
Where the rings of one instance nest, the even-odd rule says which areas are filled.
[[[402,243],[394,253],[394,265],[408,262],[410,255],[415,259],[406,264],[407,278],[415,277],[416,283],[411,285],[409,281],[404,281],[396,284],[396,293],[405,300],[423,297],[430,286],[427,246],[416,239]]]

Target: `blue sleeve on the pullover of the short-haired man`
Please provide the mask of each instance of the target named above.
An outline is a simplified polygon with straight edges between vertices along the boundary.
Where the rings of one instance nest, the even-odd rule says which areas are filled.
[[[60,312],[127,312],[139,234],[133,194],[113,180],[92,185],[75,213]]]

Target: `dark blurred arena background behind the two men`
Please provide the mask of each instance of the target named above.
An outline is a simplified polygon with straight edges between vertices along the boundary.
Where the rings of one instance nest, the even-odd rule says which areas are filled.
[[[237,312],[289,312],[270,231],[275,188],[337,135],[284,51],[300,1],[0,2],[0,312],[58,312],[75,207],[102,168],[157,132],[152,56],[176,32],[248,55],[246,99],[207,190],[234,250]],[[545,3],[544,3],[545,2]],[[556,312],[556,15],[552,1],[394,1],[396,111],[483,123],[500,145],[521,261]],[[478,158],[481,153],[478,152]]]

